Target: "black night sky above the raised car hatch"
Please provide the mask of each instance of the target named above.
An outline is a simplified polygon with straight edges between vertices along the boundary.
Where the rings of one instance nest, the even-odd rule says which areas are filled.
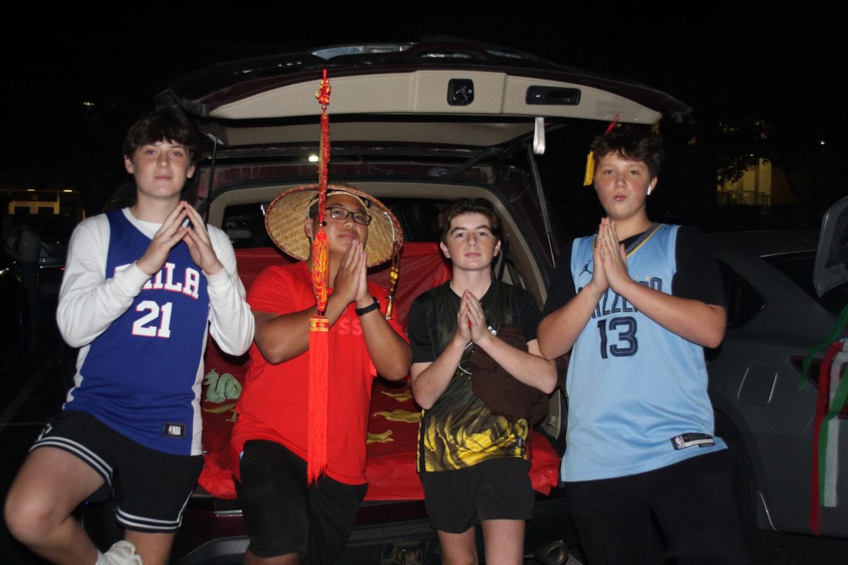
[[[351,3],[353,4],[353,3]],[[120,165],[120,136],[168,82],[207,64],[426,34],[515,47],[667,91],[696,115],[845,130],[842,10],[806,3],[124,3],[21,8],[6,22],[0,183]],[[94,102],[97,112],[86,112]],[[841,142],[841,141],[840,141]],[[842,146],[844,147],[844,143]],[[91,162],[89,162],[89,160]]]

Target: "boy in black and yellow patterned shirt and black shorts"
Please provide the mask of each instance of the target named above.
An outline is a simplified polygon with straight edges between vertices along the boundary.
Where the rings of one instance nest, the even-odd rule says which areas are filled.
[[[479,520],[486,561],[521,563],[533,510],[527,416],[556,370],[538,352],[533,296],[492,278],[501,245],[492,204],[452,202],[439,228],[453,278],[416,298],[409,317],[424,501],[446,562],[478,561]]]

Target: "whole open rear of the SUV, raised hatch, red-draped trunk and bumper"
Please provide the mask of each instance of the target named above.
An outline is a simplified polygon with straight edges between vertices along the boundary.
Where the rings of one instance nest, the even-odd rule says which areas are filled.
[[[449,278],[430,225],[445,202],[482,197],[494,204],[509,244],[501,253],[508,259],[501,258],[494,272],[541,305],[564,235],[548,217],[535,163],[534,155],[545,151],[545,135],[552,130],[588,135],[613,119],[648,127],[663,115],[682,120],[690,112],[650,86],[467,42],[321,47],[200,69],[174,81],[156,105],[178,108],[209,140],[195,175],[196,196],[209,224],[231,236],[247,287],[266,266],[291,261],[271,247],[259,210],[287,188],[315,183],[309,158],[320,138],[321,107],[314,93],[322,69],[332,82],[330,180],[380,198],[407,237],[393,313],[404,329],[414,298]],[[369,278],[388,288],[387,268],[371,269]],[[201,489],[176,537],[172,561],[182,565],[241,562],[248,545],[234,500],[229,449],[247,359],[221,355],[210,343],[205,362],[202,407],[209,453]],[[415,552],[426,547],[409,554],[404,544],[433,540],[430,550],[435,546],[415,470],[420,413],[408,382],[375,381],[366,448],[370,486],[348,547],[397,551],[377,553],[368,562],[410,562],[400,554],[427,562]],[[565,415],[565,397],[556,392],[530,440],[537,494],[527,551],[574,541],[565,499],[556,488]],[[567,551],[555,551],[552,562],[566,557]]]

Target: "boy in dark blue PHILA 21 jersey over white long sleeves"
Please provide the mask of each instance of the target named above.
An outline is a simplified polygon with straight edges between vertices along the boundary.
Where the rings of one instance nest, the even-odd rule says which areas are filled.
[[[199,396],[209,327],[247,351],[254,318],[227,236],[181,201],[197,138],[153,112],[126,136],[137,202],[77,226],[57,322],[80,347],[75,386],[9,490],[8,529],[56,563],[165,563],[203,468]],[[105,554],[71,512],[114,496],[125,529]]]

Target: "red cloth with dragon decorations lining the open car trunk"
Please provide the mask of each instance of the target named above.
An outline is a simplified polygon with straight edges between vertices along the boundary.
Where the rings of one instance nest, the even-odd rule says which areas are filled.
[[[291,260],[272,248],[241,250],[238,268],[245,286],[259,271],[271,264]],[[449,279],[449,266],[435,243],[411,243],[404,246],[400,258],[402,284],[398,285],[393,318],[406,330],[406,317],[416,296]],[[388,269],[369,275],[372,282],[388,291]],[[232,482],[230,431],[235,421],[234,398],[241,388],[248,368],[247,356],[231,357],[220,352],[210,341],[205,358],[207,377],[202,400],[204,417],[203,473],[200,485],[213,496],[235,498]],[[236,384],[238,383],[238,384]],[[228,394],[229,393],[229,394]],[[412,399],[408,380],[388,383],[377,379],[371,397],[371,422],[367,438],[368,479],[366,501],[421,500],[424,493],[416,474],[418,419],[421,408]],[[330,414],[332,434],[332,414]],[[533,488],[548,494],[557,484],[559,457],[544,436],[538,432],[531,442],[531,476]]]

